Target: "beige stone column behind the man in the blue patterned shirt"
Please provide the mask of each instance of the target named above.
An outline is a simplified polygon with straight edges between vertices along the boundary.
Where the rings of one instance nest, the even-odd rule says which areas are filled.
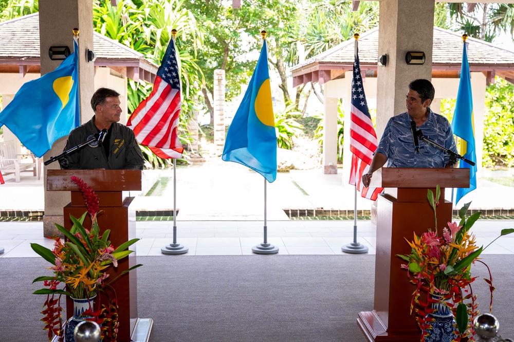
[[[382,0],[378,55],[387,54],[387,66],[378,68],[377,136],[383,134],[394,115],[406,112],[405,96],[409,83],[418,78],[432,79],[434,0]],[[425,52],[425,64],[408,65],[408,51]]]

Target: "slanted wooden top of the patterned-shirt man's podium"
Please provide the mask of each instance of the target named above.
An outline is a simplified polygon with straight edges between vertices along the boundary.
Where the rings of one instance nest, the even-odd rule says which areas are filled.
[[[468,188],[469,169],[381,168],[373,173],[370,187]]]

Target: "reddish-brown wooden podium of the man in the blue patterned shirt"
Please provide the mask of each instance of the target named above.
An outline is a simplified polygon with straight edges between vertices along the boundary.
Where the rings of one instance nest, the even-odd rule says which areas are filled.
[[[444,200],[444,188],[469,187],[469,169],[382,168],[373,174],[371,187],[385,188],[377,204],[377,250],[375,261],[375,302],[371,312],[360,312],[357,324],[371,341],[418,342],[421,331],[416,313],[410,315],[415,286],[409,282],[405,263],[397,254],[409,254],[405,239],[412,241],[434,228],[434,212],[427,190],[441,195],[437,213],[437,235],[452,221],[451,202]]]

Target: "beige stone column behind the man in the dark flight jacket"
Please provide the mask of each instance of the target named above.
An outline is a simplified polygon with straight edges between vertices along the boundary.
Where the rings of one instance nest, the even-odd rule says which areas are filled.
[[[52,61],[48,56],[50,46],[68,46],[73,50],[73,32],[79,28],[79,92],[80,120],[86,122],[93,116],[89,101],[94,92],[94,63],[86,59],[87,49],[93,50],[93,2],[84,0],[45,0],[39,6],[39,26],[41,44],[41,75],[55,70],[62,61]],[[45,153],[44,160],[56,156],[63,151],[67,137],[57,140],[50,151]],[[56,161],[44,169],[46,189],[47,169],[59,169]],[[55,223],[63,225],[63,207],[70,202],[68,192],[45,191],[45,217],[43,218],[43,234],[58,234]]]

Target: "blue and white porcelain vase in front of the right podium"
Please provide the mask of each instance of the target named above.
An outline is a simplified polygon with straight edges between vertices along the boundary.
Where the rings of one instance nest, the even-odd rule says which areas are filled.
[[[437,302],[432,303],[432,309],[435,311],[427,315],[434,319],[429,322],[432,329],[427,329],[428,336],[425,337],[425,342],[451,342],[458,335],[455,334],[455,317],[446,304],[449,299],[434,294],[431,296]]]

